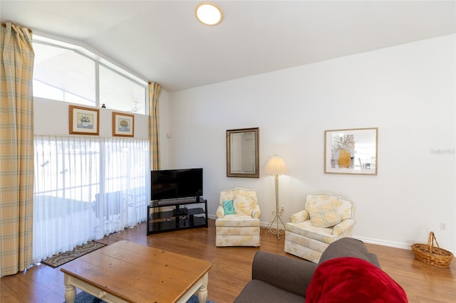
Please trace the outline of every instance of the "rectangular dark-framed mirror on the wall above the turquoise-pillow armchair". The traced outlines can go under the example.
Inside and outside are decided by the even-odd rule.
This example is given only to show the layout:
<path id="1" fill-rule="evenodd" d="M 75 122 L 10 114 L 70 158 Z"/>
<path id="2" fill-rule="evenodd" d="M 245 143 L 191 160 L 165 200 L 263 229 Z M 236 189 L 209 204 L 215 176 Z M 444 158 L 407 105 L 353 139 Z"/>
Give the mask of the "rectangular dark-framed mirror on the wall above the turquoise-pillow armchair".
<path id="1" fill-rule="evenodd" d="M 227 130 L 227 176 L 259 178 L 259 128 Z"/>

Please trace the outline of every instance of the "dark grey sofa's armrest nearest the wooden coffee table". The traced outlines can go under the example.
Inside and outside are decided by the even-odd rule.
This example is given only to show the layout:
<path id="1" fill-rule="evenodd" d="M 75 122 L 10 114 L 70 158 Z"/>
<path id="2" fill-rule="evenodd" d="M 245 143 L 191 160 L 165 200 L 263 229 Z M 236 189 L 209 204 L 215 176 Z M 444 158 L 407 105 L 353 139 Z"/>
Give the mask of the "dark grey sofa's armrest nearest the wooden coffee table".
<path id="1" fill-rule="evenodd" d="M 252 264 L 252 280 L 261 280 L 305 297 L 317 266 L 307 260 L 259 250 Z"/>

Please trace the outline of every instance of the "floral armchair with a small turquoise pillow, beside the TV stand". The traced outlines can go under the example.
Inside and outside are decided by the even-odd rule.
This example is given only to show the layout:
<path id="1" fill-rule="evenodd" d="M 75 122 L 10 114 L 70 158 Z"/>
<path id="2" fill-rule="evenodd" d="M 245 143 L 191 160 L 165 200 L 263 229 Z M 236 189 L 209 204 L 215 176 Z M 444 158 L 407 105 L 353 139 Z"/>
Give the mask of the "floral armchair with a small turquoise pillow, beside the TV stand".
<path id="1" fill-rule="evenodd" d="M 259 246 L 257 192 L 233 188 L 220 192 L 217 208 L 216 246 Z"/>

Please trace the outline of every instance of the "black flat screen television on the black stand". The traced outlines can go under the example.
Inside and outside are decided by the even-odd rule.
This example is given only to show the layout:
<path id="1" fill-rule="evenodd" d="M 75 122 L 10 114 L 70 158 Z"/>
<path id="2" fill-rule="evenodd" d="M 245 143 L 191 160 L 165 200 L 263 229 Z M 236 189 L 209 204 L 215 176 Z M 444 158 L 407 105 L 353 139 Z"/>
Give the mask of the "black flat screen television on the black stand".
<path id="1" fill-rule="evenodd" d="M 150 172 L 151 200 L 202 196 L 202 169 L 167 169 Z"/>

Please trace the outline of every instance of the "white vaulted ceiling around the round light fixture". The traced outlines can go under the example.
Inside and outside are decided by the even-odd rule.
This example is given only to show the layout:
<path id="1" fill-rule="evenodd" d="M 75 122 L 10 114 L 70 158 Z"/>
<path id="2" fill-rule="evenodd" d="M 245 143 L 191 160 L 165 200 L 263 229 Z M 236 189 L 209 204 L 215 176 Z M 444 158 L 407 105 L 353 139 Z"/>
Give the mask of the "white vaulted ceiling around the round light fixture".
<path id="1" fill-rule="evenodd" d="M 455 1 L 0 1 L 2 22 L 99 50 L 169 91 L 456 32 Z"/>

